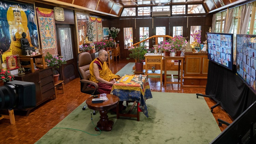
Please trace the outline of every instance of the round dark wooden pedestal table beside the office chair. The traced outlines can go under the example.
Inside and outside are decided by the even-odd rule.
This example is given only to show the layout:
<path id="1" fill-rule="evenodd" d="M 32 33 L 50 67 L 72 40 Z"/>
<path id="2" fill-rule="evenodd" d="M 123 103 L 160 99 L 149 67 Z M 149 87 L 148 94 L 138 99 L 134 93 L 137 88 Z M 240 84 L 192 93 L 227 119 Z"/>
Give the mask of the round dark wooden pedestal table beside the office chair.
<path id="1" fill-rule="evenodd" d="M 99 98 L 100 95 L 98 95 Z M 91 101 L 93 99 L 93 96 L 89 97 L 86 100 L 86 104 L 88 106 L 88 108 L 93 109 L 93 110 L 99 110 L 100 113 L 100 120 L 97 123 L 97 127 L 100 130 L 105 130 L 105 131 L 111 131 L 112 130 L 112 125 L 114 124 L 113 121 L 110 121 L 108 119 L 108 111 L 112 108 L 115 108 L 116 106 L 118 106 L 118 102 L 119 102 L 119 97 L 113 94 L 107 94 L 108 97 L 108 101 L 104 101 L 103 103 L 97 103 L 97 104 L 93 104 Z M 99 129 L 97 129 L 95 127 L 96 131 L 99 131 Z"/>

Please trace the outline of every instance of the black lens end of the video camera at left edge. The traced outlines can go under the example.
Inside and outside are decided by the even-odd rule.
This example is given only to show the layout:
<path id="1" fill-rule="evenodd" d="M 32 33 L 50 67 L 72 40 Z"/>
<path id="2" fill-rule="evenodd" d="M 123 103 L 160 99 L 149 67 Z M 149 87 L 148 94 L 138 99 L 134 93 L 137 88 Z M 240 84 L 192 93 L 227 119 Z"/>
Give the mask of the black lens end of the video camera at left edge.
<path id="1" fill-rule="evenodd" d="M 0 109 L 12 109 L 15 106 L 15 86 L 4 85 L 0 87 Z"/>

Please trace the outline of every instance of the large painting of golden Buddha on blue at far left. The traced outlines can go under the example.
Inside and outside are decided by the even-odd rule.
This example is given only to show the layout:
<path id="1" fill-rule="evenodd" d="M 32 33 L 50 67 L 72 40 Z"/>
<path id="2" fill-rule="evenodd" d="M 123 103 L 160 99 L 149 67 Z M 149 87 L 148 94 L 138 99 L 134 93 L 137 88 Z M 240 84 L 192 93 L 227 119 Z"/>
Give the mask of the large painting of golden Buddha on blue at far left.
<path id="1" fill-rule="evenodd" d="M 30 47 L 40 48 L 38 42 L 37 19 L 33 3 L 1 1 L 0 3 L 0 54 L 2 61 L 6 56 L 21 55 L 20 39 L 26 33 Z"/>

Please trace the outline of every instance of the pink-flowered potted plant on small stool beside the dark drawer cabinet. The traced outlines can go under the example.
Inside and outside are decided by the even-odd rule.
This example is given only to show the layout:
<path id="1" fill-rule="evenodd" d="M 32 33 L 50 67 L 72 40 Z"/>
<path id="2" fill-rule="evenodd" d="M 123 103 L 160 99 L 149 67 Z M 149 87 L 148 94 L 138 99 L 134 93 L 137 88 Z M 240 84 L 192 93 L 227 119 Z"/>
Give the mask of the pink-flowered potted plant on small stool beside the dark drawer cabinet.
<path id="1" fill-rule="evenodd" d="M 58 83 L 59 81 L 59 74 L 56 73 L 55 68 L 59 68 L 61 65 L 67 64 L 67 62 L 62 58 L 63 56 L 53 56 L 49 52 L 47 52 L 44 57 L 47 66 L 53 67 L 54 83 Z"/>

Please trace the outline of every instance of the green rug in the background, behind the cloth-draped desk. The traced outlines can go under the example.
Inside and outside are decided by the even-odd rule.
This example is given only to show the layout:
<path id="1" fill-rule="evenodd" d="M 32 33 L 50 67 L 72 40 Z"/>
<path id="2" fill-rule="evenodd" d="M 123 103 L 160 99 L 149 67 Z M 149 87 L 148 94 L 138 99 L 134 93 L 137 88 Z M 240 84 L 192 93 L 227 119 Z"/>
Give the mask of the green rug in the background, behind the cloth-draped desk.
<path id="1" fill-rule="evenodd" d="M 116 74 L 120 76 L 124 76 L 125 74 L 133 74 L 134 70 L 132 70 L 132 67 L 135 65 L 135 62 L 129 62 L 126 66 L 124 66 L 121 70 L 119 70 Z M 165 71 L 162 71 L 162 73 L 165 73 Z M 178 74 L 178 71 L 167 71 L 167 74 Z M 160 75 L 149 75 L 149 78 L 160 78 Z M 167 78 L 170 78 L 171 76 L 167 76 Z M 174 76 L 175 78 L 175 76 Z"/>

